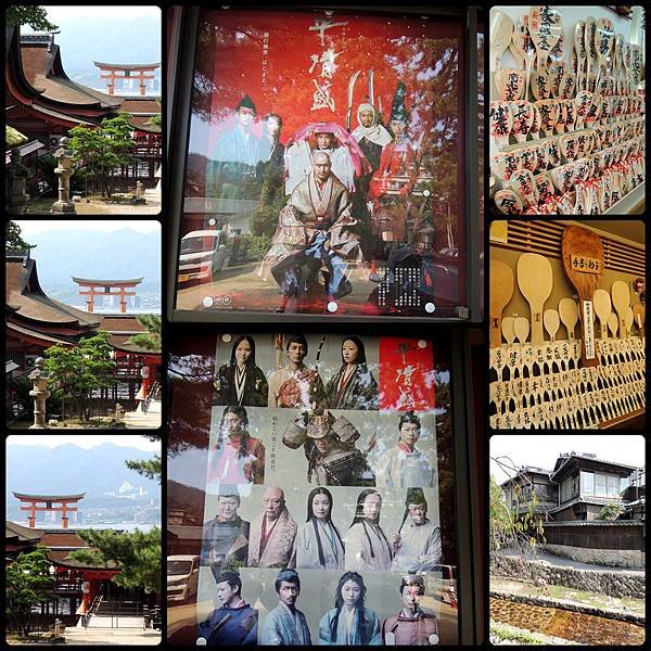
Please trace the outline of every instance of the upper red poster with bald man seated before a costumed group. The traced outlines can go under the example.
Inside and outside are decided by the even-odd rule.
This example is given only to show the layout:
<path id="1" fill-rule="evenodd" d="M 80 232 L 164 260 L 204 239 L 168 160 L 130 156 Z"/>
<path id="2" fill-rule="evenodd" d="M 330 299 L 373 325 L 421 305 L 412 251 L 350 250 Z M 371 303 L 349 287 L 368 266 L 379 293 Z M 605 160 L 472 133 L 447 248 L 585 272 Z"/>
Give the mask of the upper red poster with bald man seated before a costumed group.
<path id="1" fill-rule="evenodd" d="M 174 310 L 469 318 L 464 29 L 203 10 Z"/>

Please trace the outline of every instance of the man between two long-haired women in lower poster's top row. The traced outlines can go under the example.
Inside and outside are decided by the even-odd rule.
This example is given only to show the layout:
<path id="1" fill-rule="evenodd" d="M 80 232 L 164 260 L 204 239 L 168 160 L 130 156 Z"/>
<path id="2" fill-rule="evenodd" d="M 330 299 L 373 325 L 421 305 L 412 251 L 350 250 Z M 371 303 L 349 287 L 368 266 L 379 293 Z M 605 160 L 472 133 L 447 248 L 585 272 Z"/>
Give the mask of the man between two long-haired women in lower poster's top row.
<path id="1" fill-rule="evenodd" d="M 303 363 L 307 352 L 307 340 L 302 334 L 288 337 L 288 365 L 269 375 L 269 407 L 316 409 L 324 405 L 326 390 L 319 372 Z"/>

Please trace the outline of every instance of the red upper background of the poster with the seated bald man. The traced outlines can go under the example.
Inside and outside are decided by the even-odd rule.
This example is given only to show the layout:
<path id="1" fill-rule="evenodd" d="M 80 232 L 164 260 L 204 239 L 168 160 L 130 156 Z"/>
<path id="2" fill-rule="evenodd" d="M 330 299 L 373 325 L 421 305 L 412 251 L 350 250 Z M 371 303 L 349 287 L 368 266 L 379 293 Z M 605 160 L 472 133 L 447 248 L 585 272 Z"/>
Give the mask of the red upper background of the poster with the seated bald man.
<path id="1" fill-rule="evenodd" d="M 195 79 L 193 110 L 210 122 L 204 153 L 212 151 L 220 132 L 233 127 L 232 112 L 244 93 L 255 103 L 258 118 L 269 112 L 281 115 L 282 142 L 311 122 L 336 122 L 345 126 L 348 80 L 355 71 L 361 71 L 353 98 L 350 128 L 355 129 L 358 124 L 357 106 L 368 98 L 371 68 L 374 71 L 373 104 L 378 104 L 380 95 L 385 122 L 388 122 L 394 93 L 401 80 L 406 86 L 405 104 L 410 114 L 408 130 L 411 139 L 419 142 L 436 128 L 437 116 L 430 110 L 435 98 L 431 95 L 436 95 L 436 81 L 444 76 L 442 72 L 450 63 L 442 62 L 437 53 L 444 42 L 441 39 L 445 39 L 446 47 L 456 54 L 451 58 L 452 65 L 460 66 L 460 23 L 438 18 L 329 13 L 331 15 L 323 11 L 212 10 L 203 14 L 205 22 L 197 48 L 195 67 L 199 85 Z M 335 26 L 323 31 L 322 44 L 320 33 L 309 28 L 326 20 Z M 268 44 L 266 53 L 265 43 Z M 320 76 L 320 63 L 309 72 L 311 55 L 320 59 L 327 50 L 337 53 L 332 79 Z M 463 105 L 461 78 L 460 75 L 455 78 L 459 115 Z M 329 93 L 334 100 L 334 111 L 329 107 L 311 110 L 315 79 L 320 85 L 331 82 Z M 449 91 L 449 82 L 446 81 L 446 85 Z M 203 99 L 197 98 L 197 88 L 212 92 L 205 92 Z M 259 128 L 258 124 L 258 135 Z"/>

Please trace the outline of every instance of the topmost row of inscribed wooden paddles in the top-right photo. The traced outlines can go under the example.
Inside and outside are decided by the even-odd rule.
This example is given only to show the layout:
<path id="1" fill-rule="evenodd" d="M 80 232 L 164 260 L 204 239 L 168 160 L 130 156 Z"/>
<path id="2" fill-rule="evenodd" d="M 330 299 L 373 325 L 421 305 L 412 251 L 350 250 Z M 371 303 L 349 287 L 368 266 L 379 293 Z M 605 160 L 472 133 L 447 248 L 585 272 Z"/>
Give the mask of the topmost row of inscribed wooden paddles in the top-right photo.
<path id="1" fill-rule="evenodd" d="M 520 68 L 525 69 L 524 99 L 559 97 L 572 92 L 595 91 L 633 94 L 641 81 L 642 52 L 624 35 L 615 36 L 609 18 L 577 21 L 573 34 L 570 64 L 564 61 L 563 27 L 558 8 L 532 7 L 515 23 L 503 12 L 490 11 L 490 71 L 496 71 L 496 86 L 515 68 L 500 71 L 507 49 Z M 532 78 L 532 71 L 535 71 Z M 600 80 L 602 81 L 600 84 Z"/>

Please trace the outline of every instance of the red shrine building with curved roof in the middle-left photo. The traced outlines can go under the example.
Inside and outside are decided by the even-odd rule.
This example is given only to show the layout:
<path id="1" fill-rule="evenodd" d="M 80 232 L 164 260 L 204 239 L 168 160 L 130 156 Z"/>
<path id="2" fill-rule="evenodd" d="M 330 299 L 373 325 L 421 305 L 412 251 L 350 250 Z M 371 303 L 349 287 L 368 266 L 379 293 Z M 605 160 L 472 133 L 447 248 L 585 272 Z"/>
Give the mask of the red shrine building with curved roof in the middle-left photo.
<path id="1" fill-rule="evenodd" d="M 117 383 L 101 390 L 100 406 L 113 408 L 119 401 L 135 409 L 146 398 L 159 380 L 162 355 L 128 343 L 130 336 L 145 332 L 135 315 L 85 312 L 51 298 L 40 286 L 36 260 L 28 253 L 7 252 L 5 275 L 5 362 L 15 365 L 12 378 L 27 375 L 50 346 L 73 347 L 82 336 L 103 330 L 110 333 Z M 10 409 L 11 396 L 8 400 Z"/>

